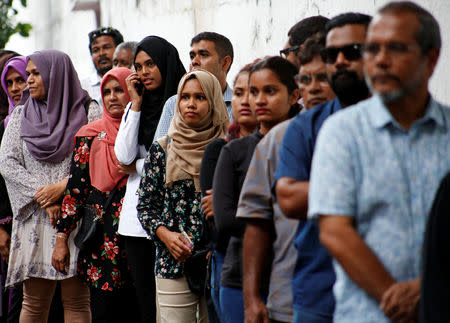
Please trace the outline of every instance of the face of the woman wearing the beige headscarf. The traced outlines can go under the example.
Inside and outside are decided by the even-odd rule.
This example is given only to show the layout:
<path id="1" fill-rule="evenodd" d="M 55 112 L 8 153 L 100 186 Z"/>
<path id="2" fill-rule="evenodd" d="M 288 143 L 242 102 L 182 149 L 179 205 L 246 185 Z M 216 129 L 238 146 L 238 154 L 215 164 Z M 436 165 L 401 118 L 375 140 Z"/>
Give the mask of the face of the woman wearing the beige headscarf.
<path id="1" fill-rule="evenodd" d="M 197 126 L 209 112 L 209 103 L 197 79 L 184 83 L 180 94 L 180 112 L 191 127 Z"/>

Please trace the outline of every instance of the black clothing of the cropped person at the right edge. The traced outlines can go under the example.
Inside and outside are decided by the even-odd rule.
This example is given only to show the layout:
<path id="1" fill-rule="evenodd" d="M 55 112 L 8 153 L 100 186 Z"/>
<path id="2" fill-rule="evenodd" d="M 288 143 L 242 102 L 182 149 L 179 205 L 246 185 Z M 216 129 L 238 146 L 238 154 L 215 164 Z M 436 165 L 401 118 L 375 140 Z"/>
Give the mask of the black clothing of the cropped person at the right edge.
<path id="1" fill-rule="evenodd" d="M 450 173 L 441 182 L 425 231 L 419 321 L 450 322 Z"/>

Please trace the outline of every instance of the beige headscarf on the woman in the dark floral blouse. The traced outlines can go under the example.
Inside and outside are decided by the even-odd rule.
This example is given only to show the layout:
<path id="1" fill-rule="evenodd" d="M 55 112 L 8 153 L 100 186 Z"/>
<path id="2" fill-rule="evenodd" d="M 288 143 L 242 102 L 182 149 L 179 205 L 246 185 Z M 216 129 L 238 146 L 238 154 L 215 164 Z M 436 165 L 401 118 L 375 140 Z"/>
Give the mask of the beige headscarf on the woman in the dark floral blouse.
<path id="1" fill-rule="evenodd" d="M 199 81 L 209 104 L 208 114 L 195 128 L 186 124 L 180 112 L 181 92 L 193 75 Z M 199 173 L 203 152 L 211 141 L 225 135 L 228 122 L 222 88 L 216 77 L 204 70 L 194 70 L 183 76 L 178 86 L 175 114 L 168 132 L 170 138 L 166 150 L 168 186 L 178 180 L 192 179 L 196 191 L 200 192 Z M 167 138 L 163 137 L 162 140 Z"/>

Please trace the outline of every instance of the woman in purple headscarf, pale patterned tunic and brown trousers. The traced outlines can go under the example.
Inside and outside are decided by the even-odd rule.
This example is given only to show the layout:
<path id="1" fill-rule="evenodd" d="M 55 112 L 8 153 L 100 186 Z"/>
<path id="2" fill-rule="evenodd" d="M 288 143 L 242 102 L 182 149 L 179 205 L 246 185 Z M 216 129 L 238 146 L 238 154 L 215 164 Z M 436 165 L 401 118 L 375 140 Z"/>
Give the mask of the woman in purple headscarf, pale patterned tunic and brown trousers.
<path id="1" fill-rule="evenodd" d="M 90 322 L 89 289 L 76 278 L 73 239 L 68 241 L 71 258 L 65 274 L 54 270 L 51 260 L 73 138 L 88 120 L 99 119 L 101 110 L 81 88 L 66 54 L 35 52 L 27 57 L 26 72 L 28 88 L 10 116 L 0 148 L 0 172 L 13 211 L 6 287 L 23 282 L 20 322 L 47 322 L 57 281 L 65 321 Z"/>

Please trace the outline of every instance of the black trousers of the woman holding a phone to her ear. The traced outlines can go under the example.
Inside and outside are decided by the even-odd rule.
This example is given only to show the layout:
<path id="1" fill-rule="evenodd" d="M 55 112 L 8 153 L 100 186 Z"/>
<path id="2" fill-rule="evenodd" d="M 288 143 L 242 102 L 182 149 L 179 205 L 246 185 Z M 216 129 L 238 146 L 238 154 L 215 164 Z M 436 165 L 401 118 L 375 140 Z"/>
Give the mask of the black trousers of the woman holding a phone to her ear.
<path id="1" fill-rule="evenodd" d="M 122 236 L 136 287 L 142 323 L 156 322 L 155 245 L 146 238 Z"/>

